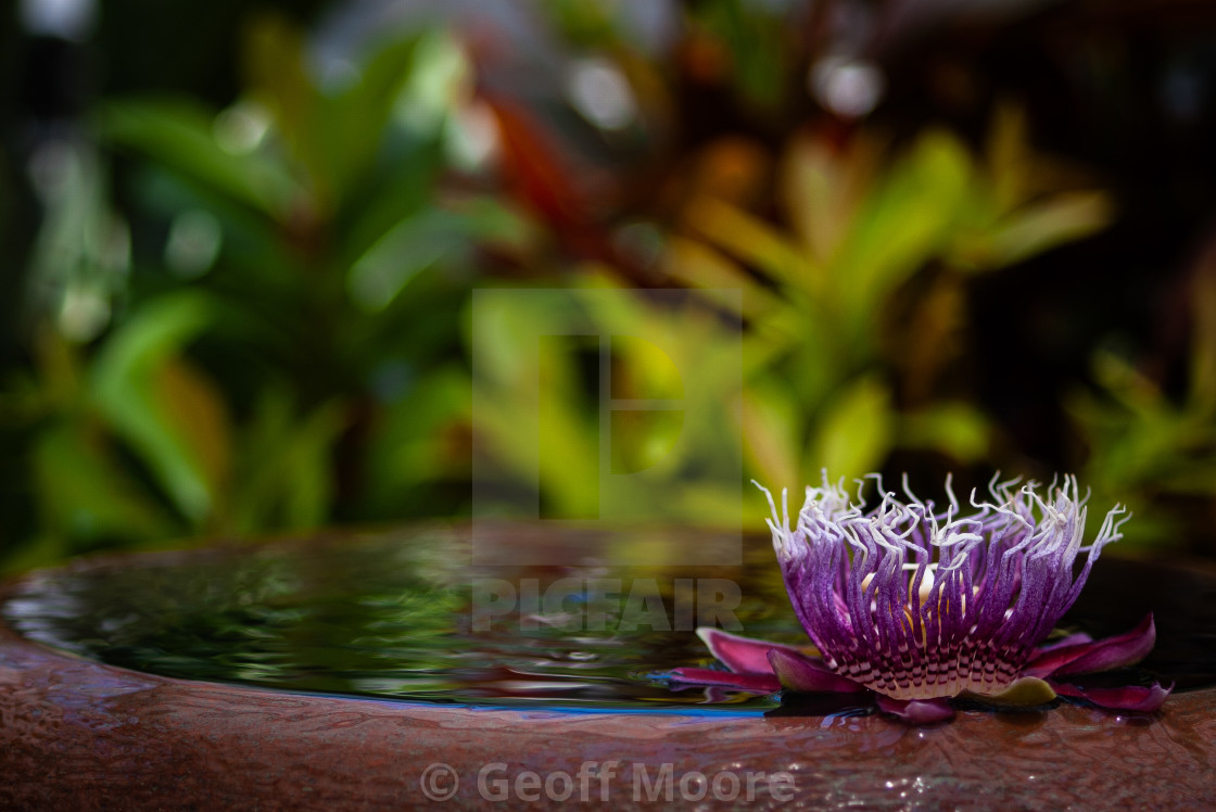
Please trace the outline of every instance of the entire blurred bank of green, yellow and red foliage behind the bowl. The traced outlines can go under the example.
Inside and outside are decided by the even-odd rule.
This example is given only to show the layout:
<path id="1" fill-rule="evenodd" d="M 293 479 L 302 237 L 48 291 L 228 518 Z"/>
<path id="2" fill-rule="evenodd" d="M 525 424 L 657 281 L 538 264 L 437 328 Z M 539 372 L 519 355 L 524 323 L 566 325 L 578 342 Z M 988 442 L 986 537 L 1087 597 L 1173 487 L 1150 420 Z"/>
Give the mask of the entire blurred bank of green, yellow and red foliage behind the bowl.
<path id="1" fill-rule="evenodd" d="M 5 502 L 34 518 L 7 529 L 0 568 L 462 514 L 471 456 L 507 513 L 535 491 L 546 515 L 593 515 L 604 470 L 653 472 L 614 515 L 703 524 L 738 514 L 736 489 L 699 479 L 733 459 L 792 489 L 895 461 L 1049 478 L 969 379 L 970 294 L 1107 227 L 1113 196 L 1034 150 L 1014 105 L 970 140 L 800 107 L 814 53 L 778 5 L 693 4 L 668 62 L 634 47 L 612 4 L 539 4 L 562 71 L 632 94 L 617 129 L 564 74 L 506 92 L 475 36 L 388 32 L 327 72 L 276 17 L 248 21 L 224 107 L 102 98 L 30 160 L 29 363 L 4 380 L 0 428 L 19 472 Z M 714 119 L 680 141 L 681 94 L 704 86 L 759 135 Z M 1060 458 L 1158 545 L 1216 498 L 1216 277 L 1197 278 L 1181 395 L 1102 350 L 1096 385 L 1065 402 Z M 561 309 L 499 304 L 473 323 L 478 287 L 602 294 L 587 306 L 610 334 L 664 338 L 659 353 L 614 339 L 613 397 L 708 397 L 711 416 L 614 415 L 602 461 L 599 350 L 534 346 L 569 332 Z M 692 295 L 658 306 L 643 287 Z"/>

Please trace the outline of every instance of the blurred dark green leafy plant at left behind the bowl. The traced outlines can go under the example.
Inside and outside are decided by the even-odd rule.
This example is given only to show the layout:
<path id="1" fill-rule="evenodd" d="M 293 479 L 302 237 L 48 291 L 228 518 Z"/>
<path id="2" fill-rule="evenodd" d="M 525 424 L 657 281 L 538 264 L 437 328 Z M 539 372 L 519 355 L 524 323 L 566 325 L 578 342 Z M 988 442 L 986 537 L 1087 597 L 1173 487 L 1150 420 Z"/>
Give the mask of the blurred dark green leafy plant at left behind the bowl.
<path id="1" fill-rule="evenodd" d="M 107 253 L 106 229 L 125 226 L 100 173 L 75 171 L 91 152 L 62 147 L 73 171 L 32 269 L 38 363 L 9 395 L 33 433 L 39 502 L 17 565 L 392 518 L 438 498 L 426 484 L 466 478 L 467 451 L 440 430 L 468 402 L 449 353 L 467 282 L 451 266 L 472 239 L 510 242 L 523 224 L 492 198 L 437 199 L 444 92 L 461 86 L 433 74 L 456 45 L 393 41 L 333 90 L 292 28 L 263 19 L 248 36 L 248 90 L 225 111 L 98 108 L 101 142 L 137 162 L 136 205 L 164 224 L 157 266 Z"/>

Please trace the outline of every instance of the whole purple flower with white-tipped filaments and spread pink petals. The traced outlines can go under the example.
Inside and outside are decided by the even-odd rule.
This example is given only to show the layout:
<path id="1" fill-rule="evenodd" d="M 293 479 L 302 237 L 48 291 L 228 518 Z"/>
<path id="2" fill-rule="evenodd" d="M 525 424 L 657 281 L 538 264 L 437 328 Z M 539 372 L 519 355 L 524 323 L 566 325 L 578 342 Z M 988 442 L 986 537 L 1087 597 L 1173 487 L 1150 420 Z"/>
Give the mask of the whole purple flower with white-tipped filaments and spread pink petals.
<path id="1" fill-rule="evenodd" d="M 730 671 L 676 669 L 676 682 L 743 690 L 857 692 L 879 709 L 916 723 L 948 720 L 952 698 L 996 706 L 1036 706 L 1057 695 L 1103 707 L 1152 712 L 1170 688 L 1081 688 L 1077 675 L 1142 660 L 1156 638 L 1153 616 L 1126 635 L 1093 641 L 1073 635 L 1045 645 L 1073 605 L 1102 548 L 1122 537 L 1121 506 L 1082 545 L 1086 498 L 1074 477 L 1045 496 L 1018 480 L 990 485 L 991 501 L 963 515 L 946 479 L 950 504 L 935 512 L 903 481 L 907 502 L 883 491 L 865 513 L 840 484 L 806 489 L 790 529 L 769 497 L 773 547 L 794 613 L 814 647 L 781 645 L 700 628 Z M 1085 564 L 1073 577 L 1077 554 Z"/>

